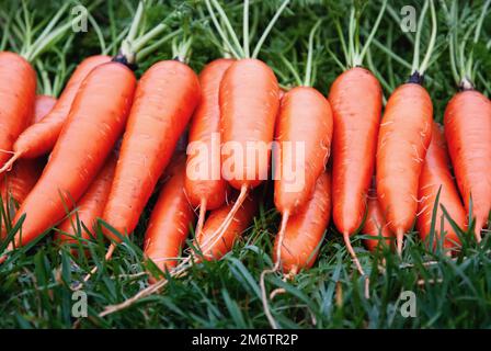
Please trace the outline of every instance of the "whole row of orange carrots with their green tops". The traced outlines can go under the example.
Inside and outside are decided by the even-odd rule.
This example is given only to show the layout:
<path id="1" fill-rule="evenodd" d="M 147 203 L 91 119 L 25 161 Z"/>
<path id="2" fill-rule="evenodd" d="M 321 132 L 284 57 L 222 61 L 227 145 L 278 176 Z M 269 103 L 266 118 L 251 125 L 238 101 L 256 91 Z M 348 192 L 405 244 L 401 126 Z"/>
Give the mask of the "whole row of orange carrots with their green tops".
<path id="1" fill-rule="evenodd" d="M 266 275 L 290 280 L 311 268 L 331 224 L 365 279 L 366 298 L 369 280 L 352 247 L 354 235 L 367 235 L 370 251 L 393 248 L 399 254 L 414 225 L 425 245 L 448 256 L 459 251 L 463 235 L 473 234 L 479 244 L 491 211 L 491 102 L 476 88 L 482 75 L 472 44 L 480 41 L 490 3 L 482 2 L 461 38 L 457 1 L 423 1 L 408 80 L 395 87 L 372 57 L 373 46 L 389 56 L 390 44 L 377 38 L 384 15 L 393 11 L 387 1 L 370 19 L 370 31 L 363 31 L 361 21 L 368 19 L 352 7 L 346 33 L 340 22 L 334 26 L 335 43 L 322 43 L 322 19 L 308 23 L 308 35 L 295 38 L 305 63 L 292 47 L 263 50 L 269 36 L 283 35 L 275 24 L 288 15 L 289 0 L 275 7 L 263 29 L 253 1 L 227 8 L 199 1 L 195 21 L 221 57 L 208 57 L 198 75 L 189 66 L 192 29 L 172 27 L 175 13 L 147 27 L 148 3 L 140 2 L 127 29 L 113 35 L 114 56 L 106 55 L 102 30 L 89 15 L 101 53 L 77 61 L 64 88 L 52 89 L 66 72 L 52 84 L 43 55 L 69 47 L 77 35 L 72 22 L 61 21 L 69 5 L 35 24 L 24 2 L 24 18 L 9 20 L 7 13 L 2 21 L 0 261 L 15 264 L 16 251 L 52 234 L 73 258 L 92 254 L 89 242 L 103 235 L 109 261 L 158 192 L 142 245 L 149 285 L 102 317 L 160 291 L 190 267 L 221 259 L 270 197 L 282 219 L 273 264 L 260 286 L 265 316 L 277 327 L 269 301 L 281 292 L 267 294 Z M 455 24 L 448 25 L 448 47 L 437 43 L 438 5 Z M 237 13 L 241 25 L 231 21 Z M 71 21 L 78 20 L 87 19 Z M 15 45 L 15 37 L 28 39 Z M 172 57 L 152 63 L 137 79 L 137 66 L 169 43 Z M 443 125 L 434 121 L 424 87 L 435 52 L 450 56 L 457 82 Z M 321 66 L 321 55 L 343 70 L 329 91 L 313 88 L 323 69 L 333 69 Z M 58 67 L 65 63 L 61 53 Z"/>

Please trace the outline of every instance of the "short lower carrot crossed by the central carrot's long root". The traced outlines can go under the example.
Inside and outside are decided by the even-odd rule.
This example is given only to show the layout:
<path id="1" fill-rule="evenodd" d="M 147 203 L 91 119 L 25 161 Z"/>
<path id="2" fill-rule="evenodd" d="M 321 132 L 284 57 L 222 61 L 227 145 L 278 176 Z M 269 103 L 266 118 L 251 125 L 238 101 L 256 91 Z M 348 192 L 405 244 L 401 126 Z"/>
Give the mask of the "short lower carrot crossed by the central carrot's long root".
<path id="1" fill-rule="evenodd" d="M 209 238 L 215 234 L 217 228 L 227 217 L 233 206 L 233 203 L 235 202 L 230 202 L 220 208 L 212 211 L 205 222 L 205 225 L 203 226 L 203 230 L 196 238 L 196 242 L 202 250 L 203 258 L 207 261 L 219 260 L 227 252 L 229 252 L 236 240 L 239 239 L 242 233 L 250 227 L 258 211 L 258 201 L 254 194 L 249 195 L 240 206 L 240 210 L 235 214 L 233 219 L 225 230 L 224 236 L 215 245 L 213 245 L 214 240 L 209 240 Z"/>

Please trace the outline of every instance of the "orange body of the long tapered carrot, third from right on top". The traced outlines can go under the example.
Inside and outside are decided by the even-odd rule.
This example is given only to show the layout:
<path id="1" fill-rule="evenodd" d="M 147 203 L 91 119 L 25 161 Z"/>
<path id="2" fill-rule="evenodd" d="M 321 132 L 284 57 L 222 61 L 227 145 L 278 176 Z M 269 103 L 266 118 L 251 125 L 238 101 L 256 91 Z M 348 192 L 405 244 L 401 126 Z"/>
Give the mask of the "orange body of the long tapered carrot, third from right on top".
<path id="1" fill-rule="evenodd" d="M 374 174 L 381 116 L 381 88 L 370 71 L 352 68 L 329 92 L 333 111 L 333 222 L 340 233 L 354 234 L 366 212 Z"/>

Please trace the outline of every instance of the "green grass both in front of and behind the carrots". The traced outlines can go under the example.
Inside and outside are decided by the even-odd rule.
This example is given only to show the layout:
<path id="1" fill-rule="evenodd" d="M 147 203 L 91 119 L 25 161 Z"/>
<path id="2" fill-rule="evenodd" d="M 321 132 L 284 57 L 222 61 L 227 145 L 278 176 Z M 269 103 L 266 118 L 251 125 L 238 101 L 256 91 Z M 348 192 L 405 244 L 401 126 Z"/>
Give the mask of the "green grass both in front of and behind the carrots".
<path id="1" fill-rule="evenodd" d="M 89 3 L 91 1 L 85 1 Z M 170 13 L 180 1 L 153 1 L 152 11 L 147 21 L 157 23 Z M 421 1 L 409 1 L 421 8 Z M 48 16 L 56 12 L 57 1 L 30 2 L 36 8 L 35 18 Z M 47 4 L 46 4 L 47 3 Z M 267 1 L 251 5 L 251 15 L 273 13 L 279 2 Z M 364 1 L 356 1 L 357 4 Z M 408 1 L 390 1 L 399 9 Z M 469 13 L 479 13 L 477 1 Z M 199 11 L 193 9 L 199 1 L 186 1 L 172 19 L 171 27 L 185 23 L 195 34 L 193 55 L 190 65 L 199 70 L 204 64 L 220 55 L 212 41 L 206 23 L 198 19 Z M 435 104 L 435 118 L 442 121 L 446 102 L 454 94 L 455 83 L 448 64 L 446 39 L 448 25 L 439 2 L 438 38 L 436 60 L 427 71 L 426 87 Z M 464 5 L 464 3 L 461 3 Z M 237 8 L 237 2 L 228 7 Z M 343 18 L 347 4 L 338 1 L 297 0 L 290 5 L 294 11 L 286 12 L 265 44 L 262 58 L 277 69 L 281 83 L 288 86 L 292 75 L 278 59 L 284 55 L 290 59 L 299 73 L 302 73 L 306 57 L 308 33 L 318 18 L 323 18 L 320 37 L 316 45 L 317 80 L 316 87 L 327 93 L 334 78 L 341 72 L 328 54 L 328 48 L 342 57 L 334 21 Z M 9 13 L 14 2 L 0 5 Z M 92 14 L 101 26 L 106 44 L 130 22 L 130 9 L 136 1 L 105 1 L 95 5 Z M 366 5 L 362 16 L 362 33 L 369 31 L 375 21 L 379 4 Z M 240 7 L 239 7 L 240 9 Z M 294 16 L 296 12 L 299 18 Z M 398 11 L 396 11 L 397 13 Z M 469 14 L 468 22 L 472 21 Z M 267 16 L 266 16 L 267 18 Z M 113 21 L 111 19 L 114 19 Z M 475 18 L 473 18 L 475 19 Z M 365 21 L 367 20 L 367 22 Z M 232 23 L 241 23 L 240 11 L 231 14 Z M 0 22 L 0 26 L 3 25 Z M 468 23 L 461 23 L 467 25 Z M 483 43 L 490 39 L 490 21 L 483 30 L 483 42 L 476 49 L 475 59 L 480 59 L 483 81 L 478 88 L 487 89 L 491 58 Z M 264 23 L 260 21 L 258 27 Z M 429 22 L 422 35 L 422 47 L 427 41 Z M 399 31 L 392 16 L 382 19 L 376 35 L 388 49 L 372 46 L 372 64 L 379 77 L 390 88 L 403 82 L 409 76 L 406 67 L 391 59 L 386 50 L 411 61 L 412 39 Z M 98 53 L 99 39 L 93 32 L 76 35 L 73 45 L 56 49 L 62 50 L 67 66 L 73 67 L 82 57 Z M 0 41 L 1 43 L 1 41 Z M 9 46 L 8 46 L 9 47 Z M 424 50 L 424 49 L 422 49 Z M 115 53 L 115 47 L 112 54 Z M 42 57 L 48 76 L 57 75 L 58 57 L 55 48 Z M 152 63 L 171 57 L 170 45 L 163 45 L 153 55 L 139 63 L 140 75 Z M 488 88 L 489 89 L 489 88 Z M 489 93 L 489 91 L 488 91 Z M 135 234 L 119 246 L 113 259 L 103 262 L 106 245 L 100 238 L 89 245 L 91 259 L 83 256 L 72 257 L 67 248 L 58 248 L 52 235 L 46 235 L 35 245 L 20 249 L 0 265 L 0 328 L 267 328 L 261 301 L 259 279 L 262 270 L 272 265 L 271 251 L 278 215 L 272 210 L 271 184 L 267 196 L 261 201 L 261 212 L 254 225 L 243 234 L 233 251 L 218 262 L 205 262 L 193 265 L 185 276 L 171 279 L 162 292 L 139 301 L 132 307 L 99 318 L 98 315 L 107 305 L 122 303 L 145 288 L 147 276 L 142 264 L 141 244 L 146 223 L 155 200 L 150 201 L 141 216 Z M 410 233 L 402 258 L 382 250 L 367 252 L 361 245 L 361 236 L 354 239 L 355 249 L 364 269 L 370 276 L 370 298 L 364 297 L 364 279 L 355 270 L 346 253 L 341 236 L 331 227 L 324 237 L 319 258 L 315 267 L 300 272 L 294 281 L 284 282 L 281 275 L 269 275 L 267 291 L 277 287 L 285 290 L 270 301 L 277 324 L 283 328 L 490 328 L 491 327 L 491 240 L 483 235 L 483 241 L 477 245 L 469 234 L 463 236 L 463 248 L 457 257 L 448 258 L 441 250 L 431 252 L 418 239 L 416 233 Z M 3 247 L 0 246 L 0 249 Z M 425 263 L 430 262 L 430 264 Z M 83 286 L 88 296 L 88 318 L 77 320 L 71 316 L 72 287 L 94 267 L 100 271 Z M 400 313 L 403 303 L 400 297 L 404 291 L 416 296 L 416 317 L 404 318 Z"/>

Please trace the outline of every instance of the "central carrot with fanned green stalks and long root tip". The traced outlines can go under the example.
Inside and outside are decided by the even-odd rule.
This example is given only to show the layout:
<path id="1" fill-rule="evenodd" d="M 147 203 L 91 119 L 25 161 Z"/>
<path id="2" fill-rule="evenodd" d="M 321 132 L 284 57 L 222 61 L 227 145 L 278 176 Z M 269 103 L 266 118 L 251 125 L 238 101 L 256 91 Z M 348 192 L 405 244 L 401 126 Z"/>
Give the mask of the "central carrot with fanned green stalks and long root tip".
<path id="1" fill-rule="evenodd" d="M 226 23 L 232 42 L 224 34 L 210 2 L 213 2 L 215 11 L 220 14 L 222 22 Z M 221 226 L 217 227 L 214 235 L 216 240 L 220 240 L 227 231 L 227 227 L 242 202 L 246 201 L 250 190 L 267 179 L 270 147 L 279 106 L 279 87 L 273 70 L 256 57 L 264 39 L 288 2 L 288 0 L 283 1 L 254 50 L 250 54 L 249 2 L 244 2 L 243 46 L 240 46 L 237 33 L 231 27 L 218 1 L 205 1 L 217 32 L 229 52 L 237 58 L 221 79 L 219 104 L 220 140 L 222 143 L 221 177 L 233 189 L 240 190 L 240 194 Z"/>

